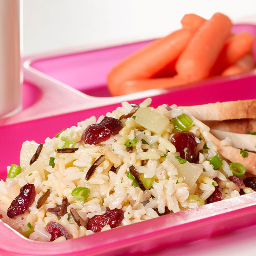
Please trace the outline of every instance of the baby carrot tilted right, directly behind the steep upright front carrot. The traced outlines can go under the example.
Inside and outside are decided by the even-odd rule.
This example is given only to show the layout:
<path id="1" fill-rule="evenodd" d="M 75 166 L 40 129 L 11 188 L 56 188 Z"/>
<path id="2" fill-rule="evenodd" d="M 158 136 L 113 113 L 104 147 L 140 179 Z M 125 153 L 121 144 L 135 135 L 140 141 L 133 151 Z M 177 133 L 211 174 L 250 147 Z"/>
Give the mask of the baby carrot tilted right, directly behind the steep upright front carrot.
<path id="1" fill-rule="evenodd" d="M 246 32 L 231 36 L 213 65 L 211 75 L 220 74 L 225 68 L 249 53 L 252 50 L 253 42 L 253 36 Z"/>

